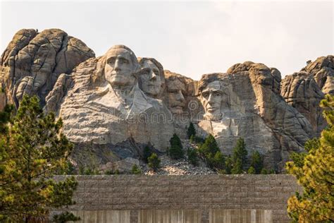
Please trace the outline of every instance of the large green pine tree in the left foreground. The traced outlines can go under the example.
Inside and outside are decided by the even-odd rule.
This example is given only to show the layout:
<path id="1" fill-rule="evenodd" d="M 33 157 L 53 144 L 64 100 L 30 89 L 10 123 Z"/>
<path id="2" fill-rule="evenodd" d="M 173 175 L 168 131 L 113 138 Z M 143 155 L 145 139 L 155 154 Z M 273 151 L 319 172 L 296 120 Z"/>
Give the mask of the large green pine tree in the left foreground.
<path id="1" fill-rule="evenodd" d="M 38 98 L 27 95 L 15 117 L 12 110 L 6 107 L 0 115 L 0 221 L 20 222 L 73 205 L 74 177 L 52 179 L 66 170 L 73 150 L 60 133 L 61 119 L 43 114 Z"/>

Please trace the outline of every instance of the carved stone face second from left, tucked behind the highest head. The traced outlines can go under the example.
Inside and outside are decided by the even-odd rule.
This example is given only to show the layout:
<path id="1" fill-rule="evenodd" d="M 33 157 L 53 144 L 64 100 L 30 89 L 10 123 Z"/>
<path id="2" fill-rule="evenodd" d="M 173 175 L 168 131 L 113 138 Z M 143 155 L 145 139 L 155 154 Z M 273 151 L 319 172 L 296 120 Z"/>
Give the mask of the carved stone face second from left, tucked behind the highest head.
<path id="1" fill-rule="evenodd" d="M 142 64 L 142 72 L 140 74 L 140 82 L 142 91 L 147 95 L 156 97 L 161 91 L 161 73 L 159 68 L 152 61 L 144 61 Z"/>

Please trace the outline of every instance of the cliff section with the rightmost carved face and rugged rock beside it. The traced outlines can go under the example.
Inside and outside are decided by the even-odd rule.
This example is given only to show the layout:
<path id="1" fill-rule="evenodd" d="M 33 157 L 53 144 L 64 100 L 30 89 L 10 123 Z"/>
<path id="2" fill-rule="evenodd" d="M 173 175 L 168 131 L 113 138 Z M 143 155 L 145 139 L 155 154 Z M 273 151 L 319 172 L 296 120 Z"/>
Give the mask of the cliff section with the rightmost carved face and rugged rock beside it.
<path id="1" fill-rule="evenodd" d="M 303 150 L 314 132 L 309 121 L 278 94 L 279 82 L 275 68 L 249 61 L 235 64 L 228 73 L 203 76 L 199 95 L 206 121 L 199 126 L 216 135 L 223 151 L 230 153 L 242 137 L 249 151 L 265 155 L 268 166 L 283 169 L 290 152 Z"/>

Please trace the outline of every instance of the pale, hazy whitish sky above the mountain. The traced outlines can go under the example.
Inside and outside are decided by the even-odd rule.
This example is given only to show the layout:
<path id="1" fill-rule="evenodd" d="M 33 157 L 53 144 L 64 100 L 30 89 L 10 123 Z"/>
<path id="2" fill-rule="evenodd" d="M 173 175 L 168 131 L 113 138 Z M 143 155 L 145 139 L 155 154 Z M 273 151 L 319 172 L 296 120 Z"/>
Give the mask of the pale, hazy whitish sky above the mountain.
<path id="1" fill-rule="evenodd" d="M 4 52 L 22 28 L 59 28 L 103 55 L 136 56 L 194 80 L 253 61 L 282 76 L 334 54 L 334 1 L 1 1 Z"/>

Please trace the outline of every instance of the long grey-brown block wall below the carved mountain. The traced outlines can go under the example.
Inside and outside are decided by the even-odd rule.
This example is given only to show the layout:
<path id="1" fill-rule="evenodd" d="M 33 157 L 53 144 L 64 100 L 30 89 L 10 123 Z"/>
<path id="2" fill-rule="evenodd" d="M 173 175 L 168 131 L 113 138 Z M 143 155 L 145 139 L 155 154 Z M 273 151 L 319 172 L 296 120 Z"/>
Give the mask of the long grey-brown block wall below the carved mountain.
<path id="1" fill-rule="evenodd" d="M 57 176 L 61 179 L 63 176 Z M 76 176 L 82 222 L 289 222 L 293 176 Z"/>

